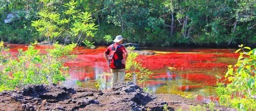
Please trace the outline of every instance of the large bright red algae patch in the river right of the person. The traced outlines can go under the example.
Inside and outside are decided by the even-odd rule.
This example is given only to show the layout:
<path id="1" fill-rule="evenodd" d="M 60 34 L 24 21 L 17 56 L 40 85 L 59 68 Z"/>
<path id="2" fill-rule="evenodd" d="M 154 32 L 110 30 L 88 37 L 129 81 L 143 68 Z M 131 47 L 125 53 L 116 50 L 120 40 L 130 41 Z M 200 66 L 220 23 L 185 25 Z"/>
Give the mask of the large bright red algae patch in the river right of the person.
<path id="1" fill-rule="evenodd" d="M 225 63 L 213 63 L 217 61 L 216 57 L 218 57 L 218 54 L 168 53 L 158 56 L 139 56 L 136 61 L 141 62 L 143 67 L 151 70 L 169 66 L 178 70 L 195 68 L 212 69 L 228 65 Z"/>

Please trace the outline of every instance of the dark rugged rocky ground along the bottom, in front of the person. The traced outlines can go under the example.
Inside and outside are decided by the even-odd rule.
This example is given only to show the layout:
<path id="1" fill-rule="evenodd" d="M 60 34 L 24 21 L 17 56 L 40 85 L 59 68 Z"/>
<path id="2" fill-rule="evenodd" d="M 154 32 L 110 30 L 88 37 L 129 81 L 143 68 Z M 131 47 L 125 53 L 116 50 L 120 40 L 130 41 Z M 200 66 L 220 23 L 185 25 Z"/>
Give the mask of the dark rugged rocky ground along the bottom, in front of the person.
<path id="1" fill-rule="evenodd" d="M 107 92 L 57 85 L 31 85 L 20 91 L 0 93 L 1 110 L 163 110 L 199 103 L 177 95 L 145 93 L 133 82 L 119 82 Z M 220 110 L 234 110 L 217 107 Z"/>

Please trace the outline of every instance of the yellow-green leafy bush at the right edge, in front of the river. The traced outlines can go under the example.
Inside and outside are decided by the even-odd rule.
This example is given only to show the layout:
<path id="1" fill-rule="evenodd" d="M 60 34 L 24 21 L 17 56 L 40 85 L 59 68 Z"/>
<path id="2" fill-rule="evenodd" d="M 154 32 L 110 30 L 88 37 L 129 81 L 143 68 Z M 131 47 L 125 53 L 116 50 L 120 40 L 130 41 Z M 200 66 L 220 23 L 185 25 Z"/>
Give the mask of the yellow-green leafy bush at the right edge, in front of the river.
<path id="1" fill-rule="evenodd" d="M 255 95 L 255 65 L 256 49 L 239 45 L 240 52 L 237 64 L 228 66 L 225 77 L 230 81 L 225 85 L 218 82 L 217 94 L 222 105 L 236 107 L 239 110 L 253 110 L 256 108 Z"/>

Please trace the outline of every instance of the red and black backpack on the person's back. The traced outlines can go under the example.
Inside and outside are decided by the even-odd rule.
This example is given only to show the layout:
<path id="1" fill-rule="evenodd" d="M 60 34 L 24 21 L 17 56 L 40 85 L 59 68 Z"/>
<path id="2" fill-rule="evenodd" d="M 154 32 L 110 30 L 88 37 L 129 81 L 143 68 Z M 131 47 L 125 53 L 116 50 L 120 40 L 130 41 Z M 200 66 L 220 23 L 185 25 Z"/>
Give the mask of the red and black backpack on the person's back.
<path id="1" fill-rule="evenodd" d="M 122 60 L 117 56 L 117 49 L 120 48 L 122 45 L 118 45 L 117 48 L 114 48 L 114 44 L 111 45 L 111 50 L 109 54 L 109 62 L 110 68 L 120 68 L 122 67 Z"/>

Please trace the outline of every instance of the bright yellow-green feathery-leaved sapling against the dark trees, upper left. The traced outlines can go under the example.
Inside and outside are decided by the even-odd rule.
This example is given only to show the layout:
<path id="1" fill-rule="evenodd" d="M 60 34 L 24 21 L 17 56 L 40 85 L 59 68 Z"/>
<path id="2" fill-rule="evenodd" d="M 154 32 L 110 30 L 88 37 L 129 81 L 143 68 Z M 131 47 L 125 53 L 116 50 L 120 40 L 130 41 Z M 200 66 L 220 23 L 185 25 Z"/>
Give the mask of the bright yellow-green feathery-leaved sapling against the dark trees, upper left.
<path id="1" fill-rule="evenodd" d="M 46 37 L 49 43 L 54 43 L 59 37 L 70 39 L 77 44 L 94 37 L 96 25 L 89 12 L 81 12 L 77 9 L 77 2 L 70 1 L 64 4 L 66 10 L 62 13 L 51 12 L 49 8 L 38 12 L 40 19 L 32 21 L 32 26 L 39 32 L 40 36 Z M 89 41 L 86 41 L 89 42 Z"/>

